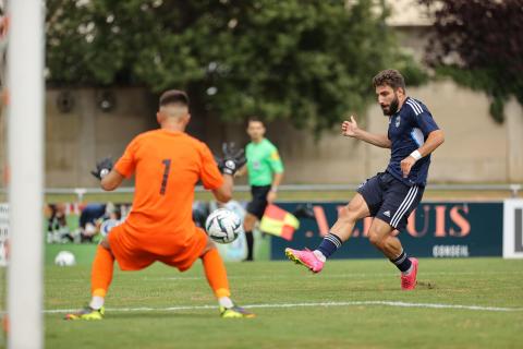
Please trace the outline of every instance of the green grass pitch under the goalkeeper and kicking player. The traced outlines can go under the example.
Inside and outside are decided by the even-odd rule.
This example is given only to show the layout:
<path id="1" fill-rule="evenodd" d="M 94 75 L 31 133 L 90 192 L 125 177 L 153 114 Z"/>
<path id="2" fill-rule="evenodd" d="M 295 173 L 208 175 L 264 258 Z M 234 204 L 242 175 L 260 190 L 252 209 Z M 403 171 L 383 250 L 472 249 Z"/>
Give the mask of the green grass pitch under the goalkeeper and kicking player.
<path id="1" fill-rule="evenodd" d="M 106 318 L 66 322 L 64 310 L 89 299 L 90 266 L 48 264 L 46 348 L 523 346 L 522 260 L 422 258 L 412 292 L 386 260 L 330 261 L 318 275 L 287 261 L 227 267 L 233 299 L 256 318 L 220 318 L 197 262 L 183 274 L 115 270 Z"/>

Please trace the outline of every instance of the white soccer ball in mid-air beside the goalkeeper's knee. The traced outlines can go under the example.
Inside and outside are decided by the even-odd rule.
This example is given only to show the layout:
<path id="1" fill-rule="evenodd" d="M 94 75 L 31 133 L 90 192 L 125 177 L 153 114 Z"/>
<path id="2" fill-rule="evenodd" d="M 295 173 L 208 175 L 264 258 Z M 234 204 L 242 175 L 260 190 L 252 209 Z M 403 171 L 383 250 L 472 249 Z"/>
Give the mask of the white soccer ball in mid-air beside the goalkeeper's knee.
<path id="1" fill-rule="evenodd" d="M 207 217 L 205 230 L 214 241 L 230 243 L 243 231 L 242 219 L 230 209 L 218 208 Z"/>

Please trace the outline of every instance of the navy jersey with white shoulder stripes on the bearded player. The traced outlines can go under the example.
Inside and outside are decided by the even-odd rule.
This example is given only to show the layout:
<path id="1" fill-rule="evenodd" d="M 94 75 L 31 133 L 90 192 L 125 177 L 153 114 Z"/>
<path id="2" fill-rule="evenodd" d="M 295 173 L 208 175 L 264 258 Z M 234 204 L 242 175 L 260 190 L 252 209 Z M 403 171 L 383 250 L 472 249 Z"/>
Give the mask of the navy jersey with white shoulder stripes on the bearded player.
<path id="1" fill-rule="evenodd" d="M 408 178 L 403 178 L 400 163 L 419 148 L 427 140 L 428 134 L 436 130 L 439 128 L 427 107 L 419 100 L 408 97 L 401 109 L 389 117 L 388 137 L 392 145 L 387 171 L 408 185 L 425 186 L 430 155 L 417 160 Z"/>

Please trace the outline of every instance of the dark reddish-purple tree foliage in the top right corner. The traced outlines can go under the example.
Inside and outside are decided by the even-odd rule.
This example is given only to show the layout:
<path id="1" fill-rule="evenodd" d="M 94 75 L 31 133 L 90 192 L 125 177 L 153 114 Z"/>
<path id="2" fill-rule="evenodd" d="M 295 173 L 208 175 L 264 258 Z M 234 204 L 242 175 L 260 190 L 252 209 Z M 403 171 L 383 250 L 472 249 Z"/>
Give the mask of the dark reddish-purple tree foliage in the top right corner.
<path id="1" fill-rule="evenodd" d="M 513 94 L 523 105 L 523 0 L 419 0 L 435 9 L 426 60 L 443 75 L 490 96 L 503 121 Z"/>

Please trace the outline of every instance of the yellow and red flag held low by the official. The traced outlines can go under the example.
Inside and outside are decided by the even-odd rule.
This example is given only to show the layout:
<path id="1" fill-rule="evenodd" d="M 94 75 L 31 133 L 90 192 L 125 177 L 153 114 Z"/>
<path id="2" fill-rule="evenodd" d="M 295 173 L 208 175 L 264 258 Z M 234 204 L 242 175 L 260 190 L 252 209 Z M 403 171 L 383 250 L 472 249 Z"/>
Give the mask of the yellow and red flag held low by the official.
<path id="1" fill-rule="evenodd" d="M 300 228 L 300 221 L 293 214 L 276 206 L 268 205 L 259 229 L 264 232 L 291 241 L 294 231 Z"/>

